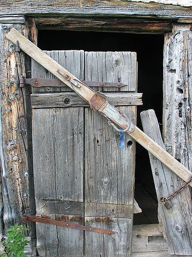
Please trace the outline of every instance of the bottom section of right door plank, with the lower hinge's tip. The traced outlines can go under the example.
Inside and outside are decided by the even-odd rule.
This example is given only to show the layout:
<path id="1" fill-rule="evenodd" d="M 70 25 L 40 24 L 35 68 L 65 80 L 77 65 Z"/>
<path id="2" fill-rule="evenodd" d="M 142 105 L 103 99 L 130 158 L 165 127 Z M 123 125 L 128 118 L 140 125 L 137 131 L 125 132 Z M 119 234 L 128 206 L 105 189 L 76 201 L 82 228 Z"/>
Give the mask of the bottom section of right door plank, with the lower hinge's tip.
<path id="1" fill-rule="evenodd" d="M 108 235 L 85 231 L 86 257 L 129 257 L 132 219 L 113 218 L 97 221 L 94 217 L 85 217 L 85 224 L 102 229 L 111 229 L 117 234 Z"/>

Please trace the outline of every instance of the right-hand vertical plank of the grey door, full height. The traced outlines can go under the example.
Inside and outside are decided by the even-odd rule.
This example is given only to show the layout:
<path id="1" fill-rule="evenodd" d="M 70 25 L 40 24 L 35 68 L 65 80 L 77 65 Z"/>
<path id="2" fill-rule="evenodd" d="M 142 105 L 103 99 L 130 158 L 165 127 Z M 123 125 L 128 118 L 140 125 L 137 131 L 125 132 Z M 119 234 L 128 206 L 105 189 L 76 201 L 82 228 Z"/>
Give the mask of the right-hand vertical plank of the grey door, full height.
<path id="1" fill-rule="evenodd" d="M 85 80 L 121 81 L 128 84 L 123 91 L 136 91 L 135 53 L 85 52 L 85 56 Z M 103 90 L 111 91 L 112 88 Z M 119 110 L 128 114 L 135 123 L 135 106 L 122 106 Z M 128 145 L 128 141 L 132 144 Z M 108 125 L 107 119 L 85 108 L 85 207 L 91 204 L 90 209 L 85 208 L 85 225 L 94 224 L 96 227 L 117 231 L 112 238 L 85 232 L 86 257 L 99 254 L 110 257 L 130 256 L 135 142 L 125 135 L 125 148 L 119 149 L 117 143 L 118 133 Z M 119 211 L 121 214 L 115 215 L 114 204 L 123 205 L 129 211 Z M 107 212 L 101 211 L 98 205 L 102 205 Z"/>

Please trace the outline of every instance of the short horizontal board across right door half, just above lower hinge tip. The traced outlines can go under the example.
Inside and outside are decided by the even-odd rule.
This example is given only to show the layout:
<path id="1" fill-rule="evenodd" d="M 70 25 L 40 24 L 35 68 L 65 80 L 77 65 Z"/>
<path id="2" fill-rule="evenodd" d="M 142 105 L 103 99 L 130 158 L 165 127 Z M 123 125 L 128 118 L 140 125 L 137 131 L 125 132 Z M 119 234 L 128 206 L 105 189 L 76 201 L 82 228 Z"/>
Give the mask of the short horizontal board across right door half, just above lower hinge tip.
<path id="1" fill-rule="evenodd" d="M 133 205 L 85 202 L 85 217 L 132 218 Z"/>

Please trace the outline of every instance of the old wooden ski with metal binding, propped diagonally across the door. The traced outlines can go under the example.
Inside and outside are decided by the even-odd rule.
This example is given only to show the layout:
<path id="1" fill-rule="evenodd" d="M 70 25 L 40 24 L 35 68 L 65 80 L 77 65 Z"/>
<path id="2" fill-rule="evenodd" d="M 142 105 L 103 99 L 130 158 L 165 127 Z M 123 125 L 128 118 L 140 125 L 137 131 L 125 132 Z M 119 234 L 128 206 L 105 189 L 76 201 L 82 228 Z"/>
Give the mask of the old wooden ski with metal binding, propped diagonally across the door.
<path id="1" fill-rule="evenodd" d="M 98 93 L 87 87 L 82 81 L 76 78 L 68 70 L 64 69 L 55 60 L 44 53 L 39 47 L 26 39 L 20 32 L 12 28 L 6 35 L 7 39 L 15 45 L 19 42 L 19 47 L 36 62 L 41 64 L 46 70 L 63 81 L 69 88 L 78 93 L 86 102 L 90 104 L 93 110 L 99 111 L 107 117 L 113 127 L 117 125 L 124 129 L 129 136 L 146 148 L 152 155 L 159 159 L 163 164 L 168 166 L 175 174 L 177 174 L 185 182 L 189 180 L 192 173 L 176 159 L 174 159 L 166 150 L 154 142 L 143 131 L 130 122 L 125 114 L 122 114 L 117 108 L 108 103 L 105 94 Z M 115 125 L 114 125 L 115 124 Z M 116 128 L 117 129 L 117 128 Z M 192 183 L 190 184 L 192 187 Z"/>

